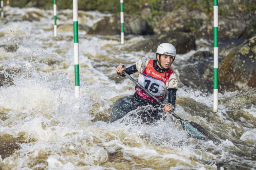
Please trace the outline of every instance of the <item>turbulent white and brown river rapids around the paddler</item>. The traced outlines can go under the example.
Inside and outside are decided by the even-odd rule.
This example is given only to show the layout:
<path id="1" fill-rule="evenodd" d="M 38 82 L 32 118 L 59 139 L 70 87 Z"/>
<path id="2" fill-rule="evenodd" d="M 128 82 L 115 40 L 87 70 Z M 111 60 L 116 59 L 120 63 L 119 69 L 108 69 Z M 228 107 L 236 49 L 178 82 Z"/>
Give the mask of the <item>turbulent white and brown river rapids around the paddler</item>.
<path id="1" fill-rule="evenodd" d="M 152 125 L 132 117 L 108 124 L 114 102 L 134 93 L 134 84 L 115 68 L 154 53 L 126 52 L 120 36 L 89 36 L 104 16 L 79 12 L 80 98 L 74 94 L 73 16 L 53 11 L 5 8 L 0 20 L 0 169 L 162 170 L 256 168 L 256 89 L 213 95 L 179 84 L 176 113 L 205 127 L 222 144 L 195 140 L 167 116 Z M 144 38 L 126 37 L 125 47 Z M 222 55 L 232 48 L 223 48 Z M 197 41 L 197 51 L 212 42 Z M 196 51 L 177 55 L 182 64 Z M 193 63 L 191 63 L 193 64 Z M 173 66 L 179 75 L 179 68 Z M 135 78 L 138 74 L 134 74 Z"/>

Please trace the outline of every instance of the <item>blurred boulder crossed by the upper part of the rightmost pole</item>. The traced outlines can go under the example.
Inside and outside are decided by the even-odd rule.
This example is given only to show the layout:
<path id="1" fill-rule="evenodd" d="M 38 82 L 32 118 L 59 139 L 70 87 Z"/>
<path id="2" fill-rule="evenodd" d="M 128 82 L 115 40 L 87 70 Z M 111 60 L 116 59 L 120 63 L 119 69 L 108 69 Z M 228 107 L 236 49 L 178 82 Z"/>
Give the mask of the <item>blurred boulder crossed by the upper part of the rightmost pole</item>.
<path id="1" fill-rule="evenodd" d="M 219 18 L 219 41 L 233 40 L 238 38 L 250 38 L 252 23 L 256 18 L 256 10 L 249 13 L 239 13 Z M 196 39 L 213 40 L 213 20 L 195 30 L 193 35 Z"/>

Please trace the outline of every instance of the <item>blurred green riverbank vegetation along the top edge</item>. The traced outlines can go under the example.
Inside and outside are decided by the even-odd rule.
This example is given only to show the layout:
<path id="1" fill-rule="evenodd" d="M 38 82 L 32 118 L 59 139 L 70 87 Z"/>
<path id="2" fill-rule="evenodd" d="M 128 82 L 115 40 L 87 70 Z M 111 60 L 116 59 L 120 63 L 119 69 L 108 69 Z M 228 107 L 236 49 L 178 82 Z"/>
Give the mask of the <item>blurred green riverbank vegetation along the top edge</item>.
<path id="1" fill-rule="evenodd" d="M 125 0 L 124 14 L 140 16 L 140 9 L 145 3 L 150 4 L 152 16 L 177 10 L 181 6 L 188 6 L 193 9 L 200 9 L 208 16 L 213 17 L 213 0 Z M 12 0 L 10 5 L 20 8 L 53 8 L 53 0 Z M 72 6 L 72 0 L 57 0 L 58 9 L 72 9 Z M 78 0 L 78 7 L 79 10 L 98 10 L 119 14 L 120 0 Z M 254 0 L 231 0 L 231 2 L 219 0 L 220 17 L 253 10 L 256 10 Z"/>

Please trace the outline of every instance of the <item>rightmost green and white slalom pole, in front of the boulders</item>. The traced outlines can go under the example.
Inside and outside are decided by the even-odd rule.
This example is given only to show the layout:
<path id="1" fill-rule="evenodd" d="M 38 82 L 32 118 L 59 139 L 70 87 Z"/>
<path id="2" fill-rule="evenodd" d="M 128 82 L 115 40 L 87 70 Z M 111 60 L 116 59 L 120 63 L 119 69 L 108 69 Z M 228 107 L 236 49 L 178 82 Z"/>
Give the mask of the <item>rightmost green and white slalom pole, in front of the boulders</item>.
<path id="1" fill-rule="evenodd" d="M 213 112 L 218 112 L 218 72 L 219 72 L 219 14 L 218 0 L 213 0 L 213 26 L 214 26 L 214 71 L 213 71 Z"/>

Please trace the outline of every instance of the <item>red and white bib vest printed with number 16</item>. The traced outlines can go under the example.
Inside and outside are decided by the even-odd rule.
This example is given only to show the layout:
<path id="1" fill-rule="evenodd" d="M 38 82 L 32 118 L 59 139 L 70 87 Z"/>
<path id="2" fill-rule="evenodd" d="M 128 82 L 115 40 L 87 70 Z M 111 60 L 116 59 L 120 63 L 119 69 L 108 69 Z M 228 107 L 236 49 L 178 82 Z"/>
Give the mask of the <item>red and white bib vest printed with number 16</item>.
<path id="1" fill-rule="evenodd" d="M 158 100 L 164 101 L 168 93 L 168 90 L 165 85 L 169 77 L 173 73 L 173 70 L 170 68 L 166 72 L 165 78 L 165 72 L 156 72 L 156 70 L 153 67 L 153 60 L 149 60 L 148 64 L 146 65 L 146 68 L 143 70 L 142 73 L 140 73 L 137 82 L 141 84 L 144 88 L 146 88 L 152 95 L 158 98 Z M 146 94 L 146 92 L 144 92 L 138 86 L 135 86 L 135 90 L 141 97 L 145 98 L 146 100 L 156 102 L 152 97 Z"/>

